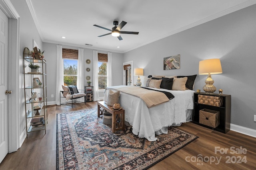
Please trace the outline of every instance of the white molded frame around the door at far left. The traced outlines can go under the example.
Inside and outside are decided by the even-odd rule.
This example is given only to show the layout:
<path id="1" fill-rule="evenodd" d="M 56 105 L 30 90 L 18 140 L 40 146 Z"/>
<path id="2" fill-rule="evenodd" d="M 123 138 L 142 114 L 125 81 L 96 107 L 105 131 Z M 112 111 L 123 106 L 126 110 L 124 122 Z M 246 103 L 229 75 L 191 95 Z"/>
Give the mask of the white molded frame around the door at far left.
<path id="1" fill-rule="evenodd" d="M 21 146 L 20 140 L 20 16 L 16 12 L 10 0 L 0 0 L 0 9 L 8 17 L 8 152 L 17 151 Z M 20 88 L 19 88 L 20 87 Z"/>

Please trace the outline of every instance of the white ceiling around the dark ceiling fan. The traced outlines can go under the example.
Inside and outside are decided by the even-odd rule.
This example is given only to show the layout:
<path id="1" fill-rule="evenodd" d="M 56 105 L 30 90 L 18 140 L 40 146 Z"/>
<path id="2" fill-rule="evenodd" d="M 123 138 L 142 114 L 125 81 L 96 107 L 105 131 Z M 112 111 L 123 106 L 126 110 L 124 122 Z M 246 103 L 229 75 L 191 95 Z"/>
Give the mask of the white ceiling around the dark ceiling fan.
<path id="1" fill-rule="evenodd" d="M 125 53 L 256 4 L 256 0 L 26 0 L 43 42 Z M 123 40 L 106 35 L 126 21 Z M 66 39 L 62 39 L 65 36 Z M 90 44 L 88 46 L 85 44 Z M 117 48 L 117 47 L 120 48 Z"/>

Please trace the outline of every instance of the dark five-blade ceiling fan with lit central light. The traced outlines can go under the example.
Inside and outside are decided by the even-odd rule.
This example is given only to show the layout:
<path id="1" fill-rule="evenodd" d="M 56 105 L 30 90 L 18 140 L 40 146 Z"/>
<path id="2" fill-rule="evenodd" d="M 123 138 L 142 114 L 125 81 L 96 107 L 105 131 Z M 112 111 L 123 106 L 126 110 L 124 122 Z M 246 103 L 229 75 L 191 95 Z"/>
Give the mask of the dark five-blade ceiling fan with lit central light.
<path id="1" fill-rule="evenodd" d="M 105 27 L 102 27 L 102 26 L 99 26 L 99 25 L 95 25 L 96 27 L 99 27 L 99 28 L 102 28 L 102 29 L 106 29 L 108 31 L 111 31 L 111 33 L 107 33 L 107 34 L 104 34 L 104 35 L 100 35 L 98 37 L 103 37 L 105 35 L 112 35 L 114 37 L 118 37 L 119 40 L 122 40 L 122 37 L 120 34 L 139 34 L 139 32 L 130 32 L 130 31 L 120 31 L 122 29 L 122 27 L 124 27 L 124 25 L 126 24 L 127 22 L 125 21 L 122 21 L 119 25 L 118 25 L 118 21 L 113 21 L 113 24 L 115 25 L 112 30 L 111 29 L 108 29 L 108 28 L 105 28 Z M 118 25 L 118 26 L 116 26 Z"/>

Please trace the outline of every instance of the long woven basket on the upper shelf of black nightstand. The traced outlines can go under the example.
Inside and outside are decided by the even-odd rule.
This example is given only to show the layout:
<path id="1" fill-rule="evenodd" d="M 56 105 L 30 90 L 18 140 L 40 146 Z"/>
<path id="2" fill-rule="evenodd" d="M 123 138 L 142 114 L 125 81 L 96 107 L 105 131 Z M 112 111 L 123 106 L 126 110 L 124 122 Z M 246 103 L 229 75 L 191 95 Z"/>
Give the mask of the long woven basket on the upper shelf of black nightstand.
<path id="1" fill-rule="evenodd" d="M 223 105 L 223 98 L 220 96 L 208 96 L 198 94 L 198 103 L 220 107 Z"/>

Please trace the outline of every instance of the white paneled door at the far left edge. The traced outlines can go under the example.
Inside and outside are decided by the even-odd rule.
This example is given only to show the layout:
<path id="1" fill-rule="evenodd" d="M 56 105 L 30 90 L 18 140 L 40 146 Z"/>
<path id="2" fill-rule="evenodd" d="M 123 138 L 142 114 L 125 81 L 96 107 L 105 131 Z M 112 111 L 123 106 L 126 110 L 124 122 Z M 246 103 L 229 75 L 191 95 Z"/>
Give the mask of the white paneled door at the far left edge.
<path id="1" fill-rule="evenodd" d="M 8 153 L 8 18 L 0 10 L 0 162 Z"/>

